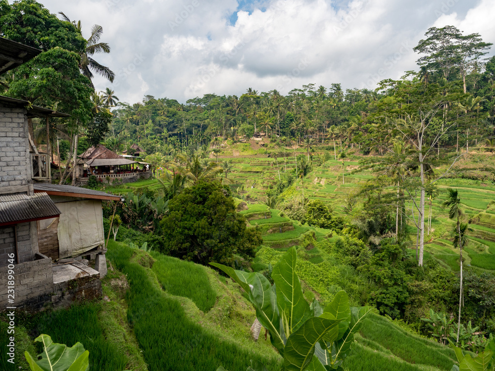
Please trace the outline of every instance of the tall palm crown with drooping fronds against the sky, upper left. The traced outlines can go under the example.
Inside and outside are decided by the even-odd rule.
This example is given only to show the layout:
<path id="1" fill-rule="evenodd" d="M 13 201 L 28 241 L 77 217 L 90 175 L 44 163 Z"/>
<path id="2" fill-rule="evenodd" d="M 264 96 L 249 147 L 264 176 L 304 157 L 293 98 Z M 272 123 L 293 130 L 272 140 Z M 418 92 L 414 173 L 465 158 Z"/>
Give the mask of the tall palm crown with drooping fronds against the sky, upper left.
<path id="1" fill-rule="evenodd" d="M 78 21 L 77 23 L 75 21 L 71 21 L 69 17 L 67 17 L 63 12 L 58 12 L 62 16 L 62 19 L 64 21 L 67 21 L 71 23 L 75 28 L 81 32 L 81 21 Z M 91 28 L 91 36 L 89 39 L 86 41 L 86 45 L 84 50 L 82 50 L 79 55 L 81 56 L 81 60 L 79 61 L 79 68 L 81 69 L 82 73 L 84 76 L 86 76 L 91 83 L 91 86 L 93 87 L 93 82 L 91 79 L 94 77 L 93 73 L 91 70 L 95 71 L 99 75 L 103 76 L 105 79 L 113 83 L 113 80 L 115 79 L 115 73 L 110 70 L 110 68 L 103 66 L 99 64 L 96 60 L 91 58 L 90 55 L 93 55 L 95 53 L 109 53 L 110 52 L 110 46 L 108 46 L 107 43 L 99 43 L 99 38 L 101 37 L 101 34 L 103 33 L 103 27 L 95 24 Z"/>

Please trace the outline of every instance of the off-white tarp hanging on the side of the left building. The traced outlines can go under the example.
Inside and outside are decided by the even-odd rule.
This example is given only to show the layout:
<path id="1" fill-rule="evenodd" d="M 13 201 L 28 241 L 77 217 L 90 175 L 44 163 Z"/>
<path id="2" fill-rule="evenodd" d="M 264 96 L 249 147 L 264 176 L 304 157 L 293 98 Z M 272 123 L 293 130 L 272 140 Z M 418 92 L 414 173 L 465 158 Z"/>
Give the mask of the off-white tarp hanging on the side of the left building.
<path id="1" fill-rule="evenodd" d="M 76 256 L 104 243 L 101 200 L 56 203 L 60 209 L 60 259 Z"/>

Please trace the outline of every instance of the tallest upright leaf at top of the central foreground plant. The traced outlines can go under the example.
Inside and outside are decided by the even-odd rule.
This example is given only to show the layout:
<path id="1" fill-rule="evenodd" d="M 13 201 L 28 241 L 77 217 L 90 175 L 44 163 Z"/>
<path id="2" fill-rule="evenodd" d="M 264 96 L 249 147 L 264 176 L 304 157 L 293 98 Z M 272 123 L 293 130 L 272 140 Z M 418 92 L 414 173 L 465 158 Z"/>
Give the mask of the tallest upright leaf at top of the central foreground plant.
<path id="1" fill-rule="evenodd" d="M 296 262 L 297 251 L 293 246 L 280 258 L 272 272 L 277 287 L 277 304 L 280 312 L 284 313 L 284 319 L 289 321 L 289 334 L 311 317 L 309 304 L 304 299 L 301 282 L 296 275 Z"/>

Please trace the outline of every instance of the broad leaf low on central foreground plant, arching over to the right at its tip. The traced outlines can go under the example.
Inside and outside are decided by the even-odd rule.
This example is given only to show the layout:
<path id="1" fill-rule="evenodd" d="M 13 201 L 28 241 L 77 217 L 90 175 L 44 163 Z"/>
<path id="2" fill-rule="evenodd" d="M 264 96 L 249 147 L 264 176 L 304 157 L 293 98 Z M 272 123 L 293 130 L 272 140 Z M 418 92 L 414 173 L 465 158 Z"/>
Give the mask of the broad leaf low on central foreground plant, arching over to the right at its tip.
<path id="1" fill-rule="evenodd" d="M 284 367 L 288 371 L 302 371 L 312 362 L 315 345 L 329 333 L 337 336 L 339 320 L 311 317 L 287 339 Z"/>

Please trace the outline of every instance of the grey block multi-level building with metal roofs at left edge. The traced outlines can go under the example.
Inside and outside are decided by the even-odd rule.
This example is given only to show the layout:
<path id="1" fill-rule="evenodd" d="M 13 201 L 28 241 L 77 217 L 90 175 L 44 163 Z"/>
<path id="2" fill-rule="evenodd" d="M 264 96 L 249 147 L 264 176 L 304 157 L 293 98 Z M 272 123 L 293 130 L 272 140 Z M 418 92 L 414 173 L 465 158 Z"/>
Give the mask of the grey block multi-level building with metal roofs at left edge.
<path id="1" fill-rule="evenodd" d="M 40 52 L 0 38 L 0 73 Z M 7 305 L 30 310 L 67 306 L 73 300 L 101 295 L 100 273 L 106 273 L 101 199 L 119 197 L 76 187 L 54 188 L 50 184 L 50 148 L 39 153 L 29 133 L 28 120 L 34 117 L 48 122 L 51 117 L 68 116 L 0 96 L 0 281 L 7 281 L 12 266 L 15 280 L 13 303 L 7 304 L 7 286 L 0 286 L 2 310 Z M 41 185 L 45 188 L 40 189 Z M 54 193 L 57 191 L 62 195 Z M 72 225 L 74 220 L 79 220 L 79 225 Z M 91 230 L 85 232 L 82 224 Z M 95 255 L 101 272 L 78 261 L 82 254 Z M 69 259 L 60 264 L 61 257 Z"/>

